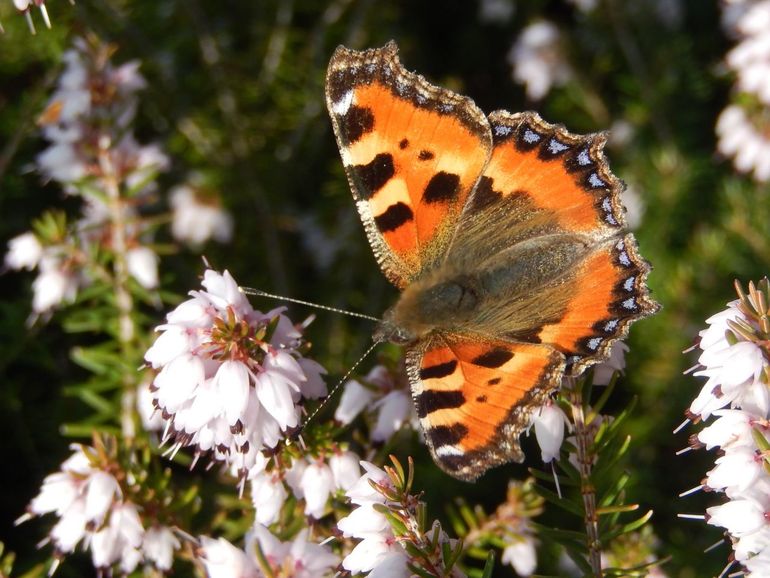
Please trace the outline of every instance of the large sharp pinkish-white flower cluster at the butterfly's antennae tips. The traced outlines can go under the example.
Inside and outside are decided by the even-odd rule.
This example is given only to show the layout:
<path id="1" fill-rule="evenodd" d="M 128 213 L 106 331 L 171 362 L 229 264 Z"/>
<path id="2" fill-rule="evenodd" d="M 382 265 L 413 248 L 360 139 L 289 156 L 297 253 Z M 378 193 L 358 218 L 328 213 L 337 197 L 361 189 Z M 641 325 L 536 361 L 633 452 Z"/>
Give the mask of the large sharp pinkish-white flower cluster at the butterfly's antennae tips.
<path id="1" fill-rule="evenodd" d="M 323 368 L 302 357 L 300 330 L 281 310 L 251 307 L 232 276 L 207 270 L 205 291 L 166 316 L 145 360 L 164 441 L 210 452 L 244 476 L 263 449 L 300 424 L 302 402 L 326 395 Z"/>

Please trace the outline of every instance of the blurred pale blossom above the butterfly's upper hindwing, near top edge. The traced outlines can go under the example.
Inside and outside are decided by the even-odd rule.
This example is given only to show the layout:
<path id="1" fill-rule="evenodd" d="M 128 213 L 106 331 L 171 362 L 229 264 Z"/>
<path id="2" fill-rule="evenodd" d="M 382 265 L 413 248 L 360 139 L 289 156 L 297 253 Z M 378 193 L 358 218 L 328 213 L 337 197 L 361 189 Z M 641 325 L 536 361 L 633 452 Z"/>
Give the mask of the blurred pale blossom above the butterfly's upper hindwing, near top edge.
<path id="1" fill-rule="evenodd" d="M 572 76 L 561 42 L 554 24 L 535 22 L 521 32 L 508 53 L 513 79 L 525 85 L 530 100 L 543 99 L 552 87 L 564 85 Z"/>

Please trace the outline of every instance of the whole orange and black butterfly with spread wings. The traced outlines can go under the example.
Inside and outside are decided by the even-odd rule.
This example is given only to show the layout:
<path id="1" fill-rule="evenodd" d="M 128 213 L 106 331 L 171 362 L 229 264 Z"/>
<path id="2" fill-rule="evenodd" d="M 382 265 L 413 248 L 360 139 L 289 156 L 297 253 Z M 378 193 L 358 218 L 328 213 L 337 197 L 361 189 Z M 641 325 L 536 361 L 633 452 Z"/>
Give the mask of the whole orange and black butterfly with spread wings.
<path id="1" fill-rule="evenodd" d="M 406 348 L 435 462 L 472 481 L 523 461 L 532 412 L 659 308 L 606 136 L 486 116 L 404 69 L 392 41 L 337 48 L 326 102 L 372 251 L 401 290 L 374 338 Z"/>

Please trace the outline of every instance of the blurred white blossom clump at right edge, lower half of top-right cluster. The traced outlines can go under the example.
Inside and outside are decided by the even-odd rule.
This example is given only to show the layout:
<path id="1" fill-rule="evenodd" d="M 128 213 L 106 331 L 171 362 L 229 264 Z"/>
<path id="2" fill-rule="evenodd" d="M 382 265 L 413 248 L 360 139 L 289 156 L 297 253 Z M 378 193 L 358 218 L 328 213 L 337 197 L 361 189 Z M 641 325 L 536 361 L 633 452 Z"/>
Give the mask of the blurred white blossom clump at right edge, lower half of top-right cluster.
<path id="1" fill-rule="evenodd" d="M 733 157 L 733 165 L 742 173 L 751 173 L 755 180 L 770 179 L 770 138 L 759 115 L 749 117 L 738 105 L 725 108 L 717 119 L 717 150 Z"/>

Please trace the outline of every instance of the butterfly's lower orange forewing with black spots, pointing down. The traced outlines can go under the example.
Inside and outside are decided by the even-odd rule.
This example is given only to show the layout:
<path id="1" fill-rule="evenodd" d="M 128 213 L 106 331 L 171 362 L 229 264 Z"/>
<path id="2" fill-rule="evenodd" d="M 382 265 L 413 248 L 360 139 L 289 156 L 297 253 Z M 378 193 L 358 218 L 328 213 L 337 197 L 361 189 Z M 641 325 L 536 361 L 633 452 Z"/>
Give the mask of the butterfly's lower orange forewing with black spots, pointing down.
<path id="1" fill-rule="evenodd" d="M 558 387 L 564 364 L 547 345 L 477 336 L 437 336 L 409 349 L 407 374 L 433 459 L 468 481 L 522 461 L 519 435 Z"/>

